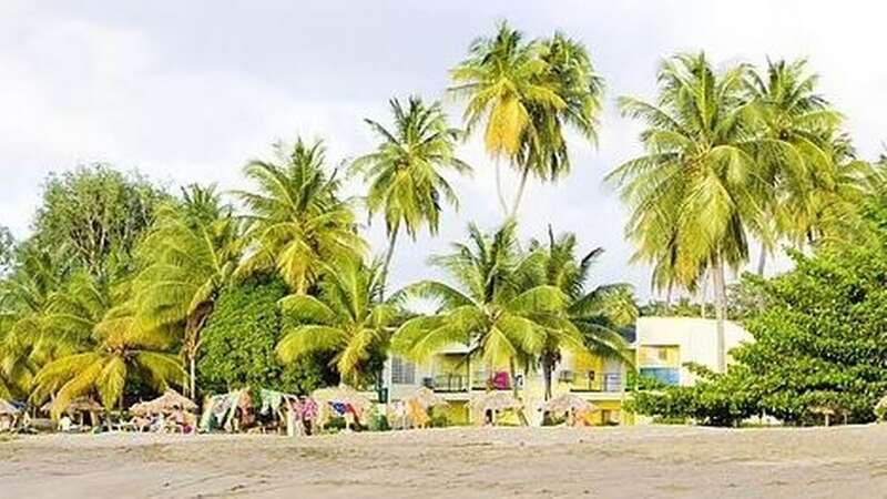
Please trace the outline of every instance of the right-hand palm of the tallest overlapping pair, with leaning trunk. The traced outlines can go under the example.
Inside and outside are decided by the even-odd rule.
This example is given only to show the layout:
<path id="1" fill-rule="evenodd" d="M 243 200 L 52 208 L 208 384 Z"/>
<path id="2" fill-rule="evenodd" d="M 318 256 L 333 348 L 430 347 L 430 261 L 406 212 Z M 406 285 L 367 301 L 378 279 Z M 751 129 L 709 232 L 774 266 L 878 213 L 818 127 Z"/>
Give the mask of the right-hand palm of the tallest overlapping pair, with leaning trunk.
<path id="1" fill-rule="evenodd" d="M 601 110 L 603 79 L 594 70 L 588 50 L 579 41 L 563 33 L 554 33 L 539 43 L 542 71 L 541 84 L 553 90 L 563 105 L 531 102 L 529 105 L 531 131 L 526 133 L 517 162 L 521 179 L 511 216 L 520 207 L 530 173 L 554 182 L 570 173 L 570 154 L 564 138 L 569 126 L 591 143 L 598 142 L 598 114 Z"/>

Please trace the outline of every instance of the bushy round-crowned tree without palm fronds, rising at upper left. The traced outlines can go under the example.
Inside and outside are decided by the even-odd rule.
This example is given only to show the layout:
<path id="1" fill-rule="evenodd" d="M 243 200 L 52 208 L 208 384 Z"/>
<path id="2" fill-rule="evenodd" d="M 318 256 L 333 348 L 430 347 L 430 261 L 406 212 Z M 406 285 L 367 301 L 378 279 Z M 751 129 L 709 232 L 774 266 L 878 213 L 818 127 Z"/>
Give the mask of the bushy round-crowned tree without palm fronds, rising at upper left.
<path id="1" fill-rule="evenodd" d="M 60 247 L 94 276 L 132 269 L 132 252 L 169 195 L 139 174 L 81 166 L 50 174 L 33 224 L 34 244 Z"/>

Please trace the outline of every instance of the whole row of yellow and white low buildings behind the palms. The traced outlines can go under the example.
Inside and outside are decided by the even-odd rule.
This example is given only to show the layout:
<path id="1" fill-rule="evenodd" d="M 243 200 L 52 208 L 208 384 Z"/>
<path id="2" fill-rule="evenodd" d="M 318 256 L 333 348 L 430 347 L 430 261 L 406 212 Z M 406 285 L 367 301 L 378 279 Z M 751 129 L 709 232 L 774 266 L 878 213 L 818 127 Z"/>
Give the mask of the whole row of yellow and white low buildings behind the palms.
<path id="1" fill-rule="evenodd" d="M 714 319 L 693 317 L 641 317 L 630 340 L 629 356 L 635 359 L 641 376 L 667 385 L 692 385 L 695 379 L 687 363 L 717 365 L 717 327 Z M 752 336 L 742 326 L 725 324 L 727 350 Z M 384 379 L 389 400 L 402 400 L 418 387 L 432 389 L 449 403 L 450 424 L 468 424 L 468 400 L 488 389 L 511 390 L 508 366 L 489 369 L 477 358 L 469 358 L 466 345 L 441 348 L 429 361 L 415 364 L 392 356 L 385 365 Z M 727 357 L 730 359 L 730 357 Z M 633 424 L 633 415 L 622 410 L 625 381 L 632 368 L 616 359 L 578 358 L 562 353 L 552 375 L 552 394 L 572 393 L 591 401 L 601 410 L 595 424 Z M 523 415 L 531 425 L 541 425 L 544 401 L 544 379 L 541 369 L 517 369 L 518 393 L 523 401 Z M 513 421 L 513 422 L 517 422 Z"/>

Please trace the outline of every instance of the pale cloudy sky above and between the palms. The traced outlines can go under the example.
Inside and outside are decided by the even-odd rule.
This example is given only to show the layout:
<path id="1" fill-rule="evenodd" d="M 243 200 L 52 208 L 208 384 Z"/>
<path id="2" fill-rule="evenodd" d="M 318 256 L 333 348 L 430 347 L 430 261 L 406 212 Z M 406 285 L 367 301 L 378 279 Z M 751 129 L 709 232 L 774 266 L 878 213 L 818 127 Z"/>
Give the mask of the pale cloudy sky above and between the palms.
<path id="1" fill-rule="evenodd" d="M 887 7 L 827 1 L 14 1 L 0 0 L 0 225 L 26 237 L 50 172 L 110 163 L 177 189 L 244 189 L 243 165 L 272 144 L 323 139 L 330 164 L 369 152 L 365 118 L 387 122 L 388 100 L 442 99 L 448 69 L 507 20 L 529 38 L 560 30 L 584 42 L 606 81 L 600 143 L 570 138 L 572 174 L 531 184 L 522 237 L 547 225 L 605 249 L 595 283 L 628 282 L 650 297 L 650 269 L 630 262 L 628 216 L 604 175 L 640 152 L 640 126 L 615 99 L 655 95 L 660 61 L 705 50 L 721 65 L 807 58 L 820 91 L 847 119 L 857 150 L 887 139 Z M 461 110 L 445 100 L 453 124 Z M 478 140 L 453 179 L 459 211 L 436 237 L 401 238 L 392 284 L 427 275 L 475 221 L 500 221 L 492 161 Z M 513 192 L 514 179 L 510 179 Z M 358 193 L 358 186 L 351 186 Z M 374 248 L 383 224 L 368 228 Z M 753 255 L 753 261 L 756 256 Z M 778 269 L 784 262 L 778 263 Z"/>

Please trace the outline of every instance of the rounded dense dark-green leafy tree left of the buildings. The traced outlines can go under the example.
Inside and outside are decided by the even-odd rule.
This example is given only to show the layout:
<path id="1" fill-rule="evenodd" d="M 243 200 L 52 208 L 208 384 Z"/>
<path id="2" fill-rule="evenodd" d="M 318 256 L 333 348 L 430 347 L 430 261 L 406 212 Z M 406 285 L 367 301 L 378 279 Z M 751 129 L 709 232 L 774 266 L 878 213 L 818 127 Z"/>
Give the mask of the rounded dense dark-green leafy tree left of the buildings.
<path id="1" fill-rule="evenodd" d="M 282 281 L 261 277 L 221 294 L 202 335 L 197 378 L 204 391 L 249 386 L 308 394 L 338 381 L 329 356 L 307 356 L 285 367 L 277 361 L 283 322 L 277 302 L 287 294 Z"/>

